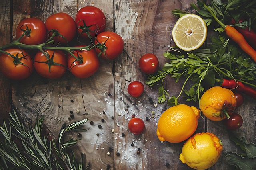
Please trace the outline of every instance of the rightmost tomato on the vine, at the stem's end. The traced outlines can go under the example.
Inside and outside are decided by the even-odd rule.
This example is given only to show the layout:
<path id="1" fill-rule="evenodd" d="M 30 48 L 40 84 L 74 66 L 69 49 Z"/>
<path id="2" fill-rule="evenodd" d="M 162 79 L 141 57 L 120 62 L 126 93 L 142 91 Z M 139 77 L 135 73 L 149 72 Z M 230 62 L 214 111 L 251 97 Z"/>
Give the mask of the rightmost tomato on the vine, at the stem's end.
<path id="1" fill-rule="evenodd" d="M 124 41 L 120 35 L 111 31 L 105 31 L 97 35 L 95 39 L 95 44 L 101 43 L 103 47 L 105 46 L 105 54 L 101 53 L 102 50 L 95 48 L 96 52 L 101 53 L 103 59 L 112 60 L 118 57 L 124 49 Z"/>

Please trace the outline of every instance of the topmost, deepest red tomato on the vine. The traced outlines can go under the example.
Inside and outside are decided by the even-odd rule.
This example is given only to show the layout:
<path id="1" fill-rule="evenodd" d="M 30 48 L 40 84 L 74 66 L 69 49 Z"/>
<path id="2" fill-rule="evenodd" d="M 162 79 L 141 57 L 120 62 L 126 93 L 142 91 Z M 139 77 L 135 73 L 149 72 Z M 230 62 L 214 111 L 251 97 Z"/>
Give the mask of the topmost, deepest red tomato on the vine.
<path id="1" fill-rule="evenodd" d="M 76 14 L 76 27 L 78 33 L 81 34 L 82 37 L 88 38 L 87 33 L 89 33 L 91 37 L 95 38 L 96 33 L 99 34 L 105 31 L 105 15 L 100 8 L 95 6 L 85 6 Z"/>

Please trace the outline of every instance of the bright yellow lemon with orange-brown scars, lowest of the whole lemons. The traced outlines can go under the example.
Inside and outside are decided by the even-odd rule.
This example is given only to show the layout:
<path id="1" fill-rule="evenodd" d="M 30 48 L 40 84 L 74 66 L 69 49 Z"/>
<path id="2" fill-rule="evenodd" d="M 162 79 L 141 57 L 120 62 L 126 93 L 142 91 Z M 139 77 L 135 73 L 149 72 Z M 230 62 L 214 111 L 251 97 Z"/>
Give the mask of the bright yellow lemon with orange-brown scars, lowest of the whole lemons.
<path id="1" fill-rule="evenodd" d="M 189 167 L 204 170 L 213 166 L 222 153 L 222 142 L 210 132 L 196 133 L 182 147 L 180 160 Z"/>

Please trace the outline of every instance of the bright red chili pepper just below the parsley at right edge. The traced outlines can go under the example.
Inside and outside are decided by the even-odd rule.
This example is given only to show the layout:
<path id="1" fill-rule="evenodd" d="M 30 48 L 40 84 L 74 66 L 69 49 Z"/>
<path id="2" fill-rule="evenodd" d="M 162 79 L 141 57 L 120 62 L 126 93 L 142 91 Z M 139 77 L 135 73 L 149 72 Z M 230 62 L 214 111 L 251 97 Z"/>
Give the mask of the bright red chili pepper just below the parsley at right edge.
<path id="1" fill-rule="evenodd" d="M 223 88 L 234 89 L 237 92 L 244 93 L 256 99 L 256 90 L 254 88 L 251 88 L 250 86 L 244 85 L 242 82 L 235 81 L 233 79 L 216 79 L 216 82 Z"/>

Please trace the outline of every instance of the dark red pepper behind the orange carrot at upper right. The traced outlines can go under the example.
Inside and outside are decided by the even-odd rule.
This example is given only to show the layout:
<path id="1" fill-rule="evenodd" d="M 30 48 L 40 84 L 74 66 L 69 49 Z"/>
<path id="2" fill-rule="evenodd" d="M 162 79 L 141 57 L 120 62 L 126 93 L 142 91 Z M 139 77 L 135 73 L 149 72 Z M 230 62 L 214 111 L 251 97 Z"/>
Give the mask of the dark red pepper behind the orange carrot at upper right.
<path id="1" fill-rule="evenodd" d="M 240 19 L 238 21 L 238 23 L 244 21 L 244 19 Z M 236 21 L 234 19 L 232 19 L 230 21 L 230 24 L 235 24 Z M 237 27 L 237 26 L 234 26 L 234 28 L 236 28 L 236 30 L 238 32 L 240 32 L 244 38 L 246 39 L 246 41 L 248 42 L 248 44 L 250 44 L 250 46 L 252 46 L 252 48 L 254 48 L 254 50 L 256 50 L 256 33 L 251 29 L 249 30 L 248 27 L 245 27 L 245 29 L 241 28 L 241 27 Z"/>

